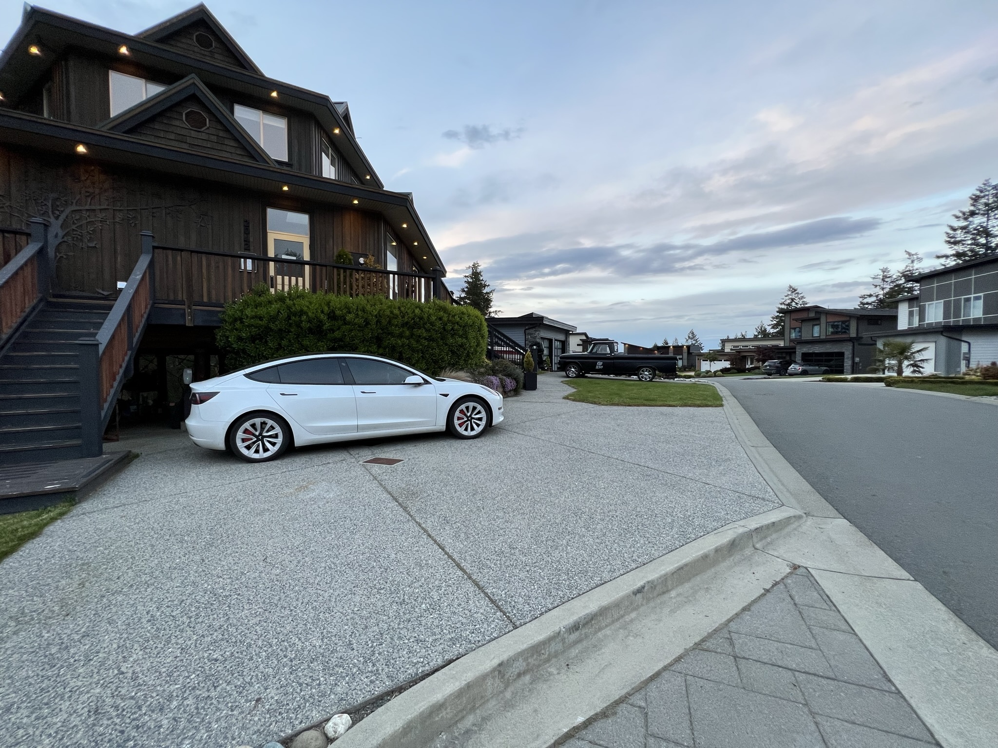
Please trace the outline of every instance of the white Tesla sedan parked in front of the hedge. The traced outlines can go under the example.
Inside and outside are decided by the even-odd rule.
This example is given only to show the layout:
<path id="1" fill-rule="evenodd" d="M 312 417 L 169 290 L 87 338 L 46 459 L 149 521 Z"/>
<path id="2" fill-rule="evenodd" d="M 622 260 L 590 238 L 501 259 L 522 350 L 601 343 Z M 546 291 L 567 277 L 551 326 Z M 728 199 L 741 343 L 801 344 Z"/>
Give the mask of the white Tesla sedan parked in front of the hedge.
<path id="1" fill-rule="evenodd" d="M 503 419 L 502 395 L 360 353 L 293 356 L 191 385 L 200 447 L 252 463 L 290 446 L 449 431 L 474 439 Z"/>

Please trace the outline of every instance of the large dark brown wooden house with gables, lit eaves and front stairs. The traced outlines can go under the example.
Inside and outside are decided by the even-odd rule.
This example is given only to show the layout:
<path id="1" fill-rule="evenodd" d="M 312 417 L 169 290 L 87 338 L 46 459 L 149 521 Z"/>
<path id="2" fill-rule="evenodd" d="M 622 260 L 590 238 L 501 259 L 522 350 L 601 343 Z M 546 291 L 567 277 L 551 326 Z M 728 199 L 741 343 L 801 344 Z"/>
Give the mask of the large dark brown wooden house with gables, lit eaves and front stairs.
<path id="1" fill-rule="evenodd" d="M 101 454 L 225 366 L 280 290 L 449 298 L 345 103 L 267 78 L 204 5 L 136 35 L 26 6 L 0 57 L 0 465 Z"/>

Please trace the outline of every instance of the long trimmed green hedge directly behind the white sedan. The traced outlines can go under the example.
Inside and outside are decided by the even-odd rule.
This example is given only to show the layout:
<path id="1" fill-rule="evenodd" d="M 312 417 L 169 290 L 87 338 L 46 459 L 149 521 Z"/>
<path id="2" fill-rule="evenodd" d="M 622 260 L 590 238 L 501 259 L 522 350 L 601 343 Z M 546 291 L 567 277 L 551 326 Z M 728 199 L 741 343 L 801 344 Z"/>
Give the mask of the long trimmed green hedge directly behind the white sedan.
<path id="1" fill-rule="evenodd" d="M 282 356 L 349 351 L 393 358 L 436 375 L 485 360 L 485 318 L 470 306 L 382 296 L 338 296 L 258 285 L 226 305 L 219 346 L 231 368 Z"/>

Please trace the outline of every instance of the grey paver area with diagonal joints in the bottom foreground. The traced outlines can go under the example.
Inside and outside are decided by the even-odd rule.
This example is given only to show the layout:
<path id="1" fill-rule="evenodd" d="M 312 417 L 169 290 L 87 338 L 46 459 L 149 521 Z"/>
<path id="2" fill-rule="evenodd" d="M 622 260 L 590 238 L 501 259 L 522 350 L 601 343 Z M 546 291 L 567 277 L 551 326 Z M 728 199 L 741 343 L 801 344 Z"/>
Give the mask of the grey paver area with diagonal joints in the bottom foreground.
<path id="1" fill-rule="evenodd" d="M 938 745 L 800 568 L 564 748 Z"/>

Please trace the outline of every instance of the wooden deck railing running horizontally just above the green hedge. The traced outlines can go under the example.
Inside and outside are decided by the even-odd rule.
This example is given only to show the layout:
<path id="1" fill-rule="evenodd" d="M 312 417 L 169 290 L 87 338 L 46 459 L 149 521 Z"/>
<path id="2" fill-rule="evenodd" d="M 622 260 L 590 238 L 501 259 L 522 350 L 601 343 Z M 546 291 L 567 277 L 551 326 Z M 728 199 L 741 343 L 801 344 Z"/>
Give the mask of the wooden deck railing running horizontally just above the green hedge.
<path id="1" fill-rule="evenodd" d="M 259 283 L 275 291 L 297 287 L 347 296 L 453 299 L 443 284 L 441 271 L 402 272 L 167 244 L 154 244 L 154 252 L 158 303 L 183 304 L 189 325 L 194 324 L 194 306 L 235 301 Z"/>

